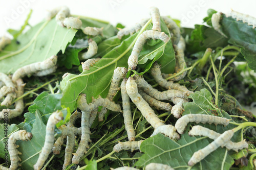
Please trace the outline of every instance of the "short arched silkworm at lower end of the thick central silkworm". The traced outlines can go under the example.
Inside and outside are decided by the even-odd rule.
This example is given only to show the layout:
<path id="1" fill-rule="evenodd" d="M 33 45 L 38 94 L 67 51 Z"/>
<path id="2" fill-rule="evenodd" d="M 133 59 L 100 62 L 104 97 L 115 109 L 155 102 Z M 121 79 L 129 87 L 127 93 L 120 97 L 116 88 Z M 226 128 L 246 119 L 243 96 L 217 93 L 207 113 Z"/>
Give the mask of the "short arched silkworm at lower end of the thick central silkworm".
<path id="1" fill-rule="evenodd" d="M 155 136 L 158 133 L 162 133 L 168 136 L 170 139 L 180 139 L 180 135 L 176 132 L 176 128 L 173 125 L 162 125 L 157 127 L 151 136 Z"/>

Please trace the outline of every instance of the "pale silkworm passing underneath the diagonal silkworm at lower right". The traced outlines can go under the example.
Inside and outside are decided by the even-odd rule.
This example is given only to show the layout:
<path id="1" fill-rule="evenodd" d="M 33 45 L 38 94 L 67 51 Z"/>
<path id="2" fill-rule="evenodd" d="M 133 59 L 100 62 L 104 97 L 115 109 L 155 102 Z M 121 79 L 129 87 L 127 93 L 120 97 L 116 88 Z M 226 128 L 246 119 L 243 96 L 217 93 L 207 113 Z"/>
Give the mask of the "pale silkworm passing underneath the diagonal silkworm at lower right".
<path id="1" fill-rule="evenodd" d="M 204 128 L 202 126 L 193 126 L 192 129 L 188 132 L 188 135 L 190 136 L 207 136 L 210 139 L 217 139 L 221 134 L 210 130 L 208 128 Z M 248 143 L 243 140 L 240 142 L 232 142 L 230 140 L 228 140 L 226 143 L 224 143 L 224 145 L 222 145 L 222 147 L 225 146 L 228 150 L 234 150 L 236 152 L 238 152 L 238 150 L 244 149 L 244 148 L 248 148 Z"/>

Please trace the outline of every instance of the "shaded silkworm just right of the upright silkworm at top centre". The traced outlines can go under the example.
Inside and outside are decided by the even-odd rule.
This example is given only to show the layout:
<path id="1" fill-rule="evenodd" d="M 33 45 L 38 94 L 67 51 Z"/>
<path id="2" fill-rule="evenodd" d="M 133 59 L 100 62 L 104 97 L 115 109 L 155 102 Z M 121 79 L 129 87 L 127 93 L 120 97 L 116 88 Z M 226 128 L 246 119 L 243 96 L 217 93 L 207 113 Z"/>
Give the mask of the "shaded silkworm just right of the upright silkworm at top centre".
<path id="1" fill-rule="evenodd" d="M 173 19 L 170 19 L 168 16 L 161 16 L 167 28 L 170 31 L 170 40 L 173 44 L 178 44 L 181 39 L 180 28 L 177 26 L 176 22 Z"/>

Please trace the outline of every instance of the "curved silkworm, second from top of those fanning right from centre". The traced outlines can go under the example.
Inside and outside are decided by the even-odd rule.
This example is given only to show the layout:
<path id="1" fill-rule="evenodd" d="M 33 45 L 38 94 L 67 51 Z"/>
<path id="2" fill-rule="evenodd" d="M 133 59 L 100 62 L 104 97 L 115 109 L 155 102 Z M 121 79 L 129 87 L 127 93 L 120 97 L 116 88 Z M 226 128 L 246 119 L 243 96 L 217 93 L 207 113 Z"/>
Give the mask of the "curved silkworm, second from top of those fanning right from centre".
<path id="1" fill-rule="evenodd" d="M 160 92 L 148 84 L 143 77 L 137 76 L 135 81 L 139 88 L 141 87 L 148 95 L 152 96 L 156 100 L 172 100 L 175 97 L 186 98 L 186 95 L 179 90 L 171 89 Z"/>

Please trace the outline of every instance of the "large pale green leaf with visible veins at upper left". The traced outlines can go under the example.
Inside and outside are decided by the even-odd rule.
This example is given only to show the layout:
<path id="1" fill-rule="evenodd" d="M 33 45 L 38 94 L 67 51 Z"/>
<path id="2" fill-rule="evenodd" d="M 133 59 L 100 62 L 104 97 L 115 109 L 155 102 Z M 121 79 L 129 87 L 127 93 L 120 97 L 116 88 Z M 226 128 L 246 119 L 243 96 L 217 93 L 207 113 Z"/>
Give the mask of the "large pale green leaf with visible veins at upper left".
<path id="1" fill-rule="evenodd" d="M 60 27 L 55 19 L 38 23 L 17 37 L 19 44 L 12 40 L 0 53 L 0 72 L 13 73 L 20 67 L 57 55 L 60 50 L 64 53 L 76 32 Z"/>

